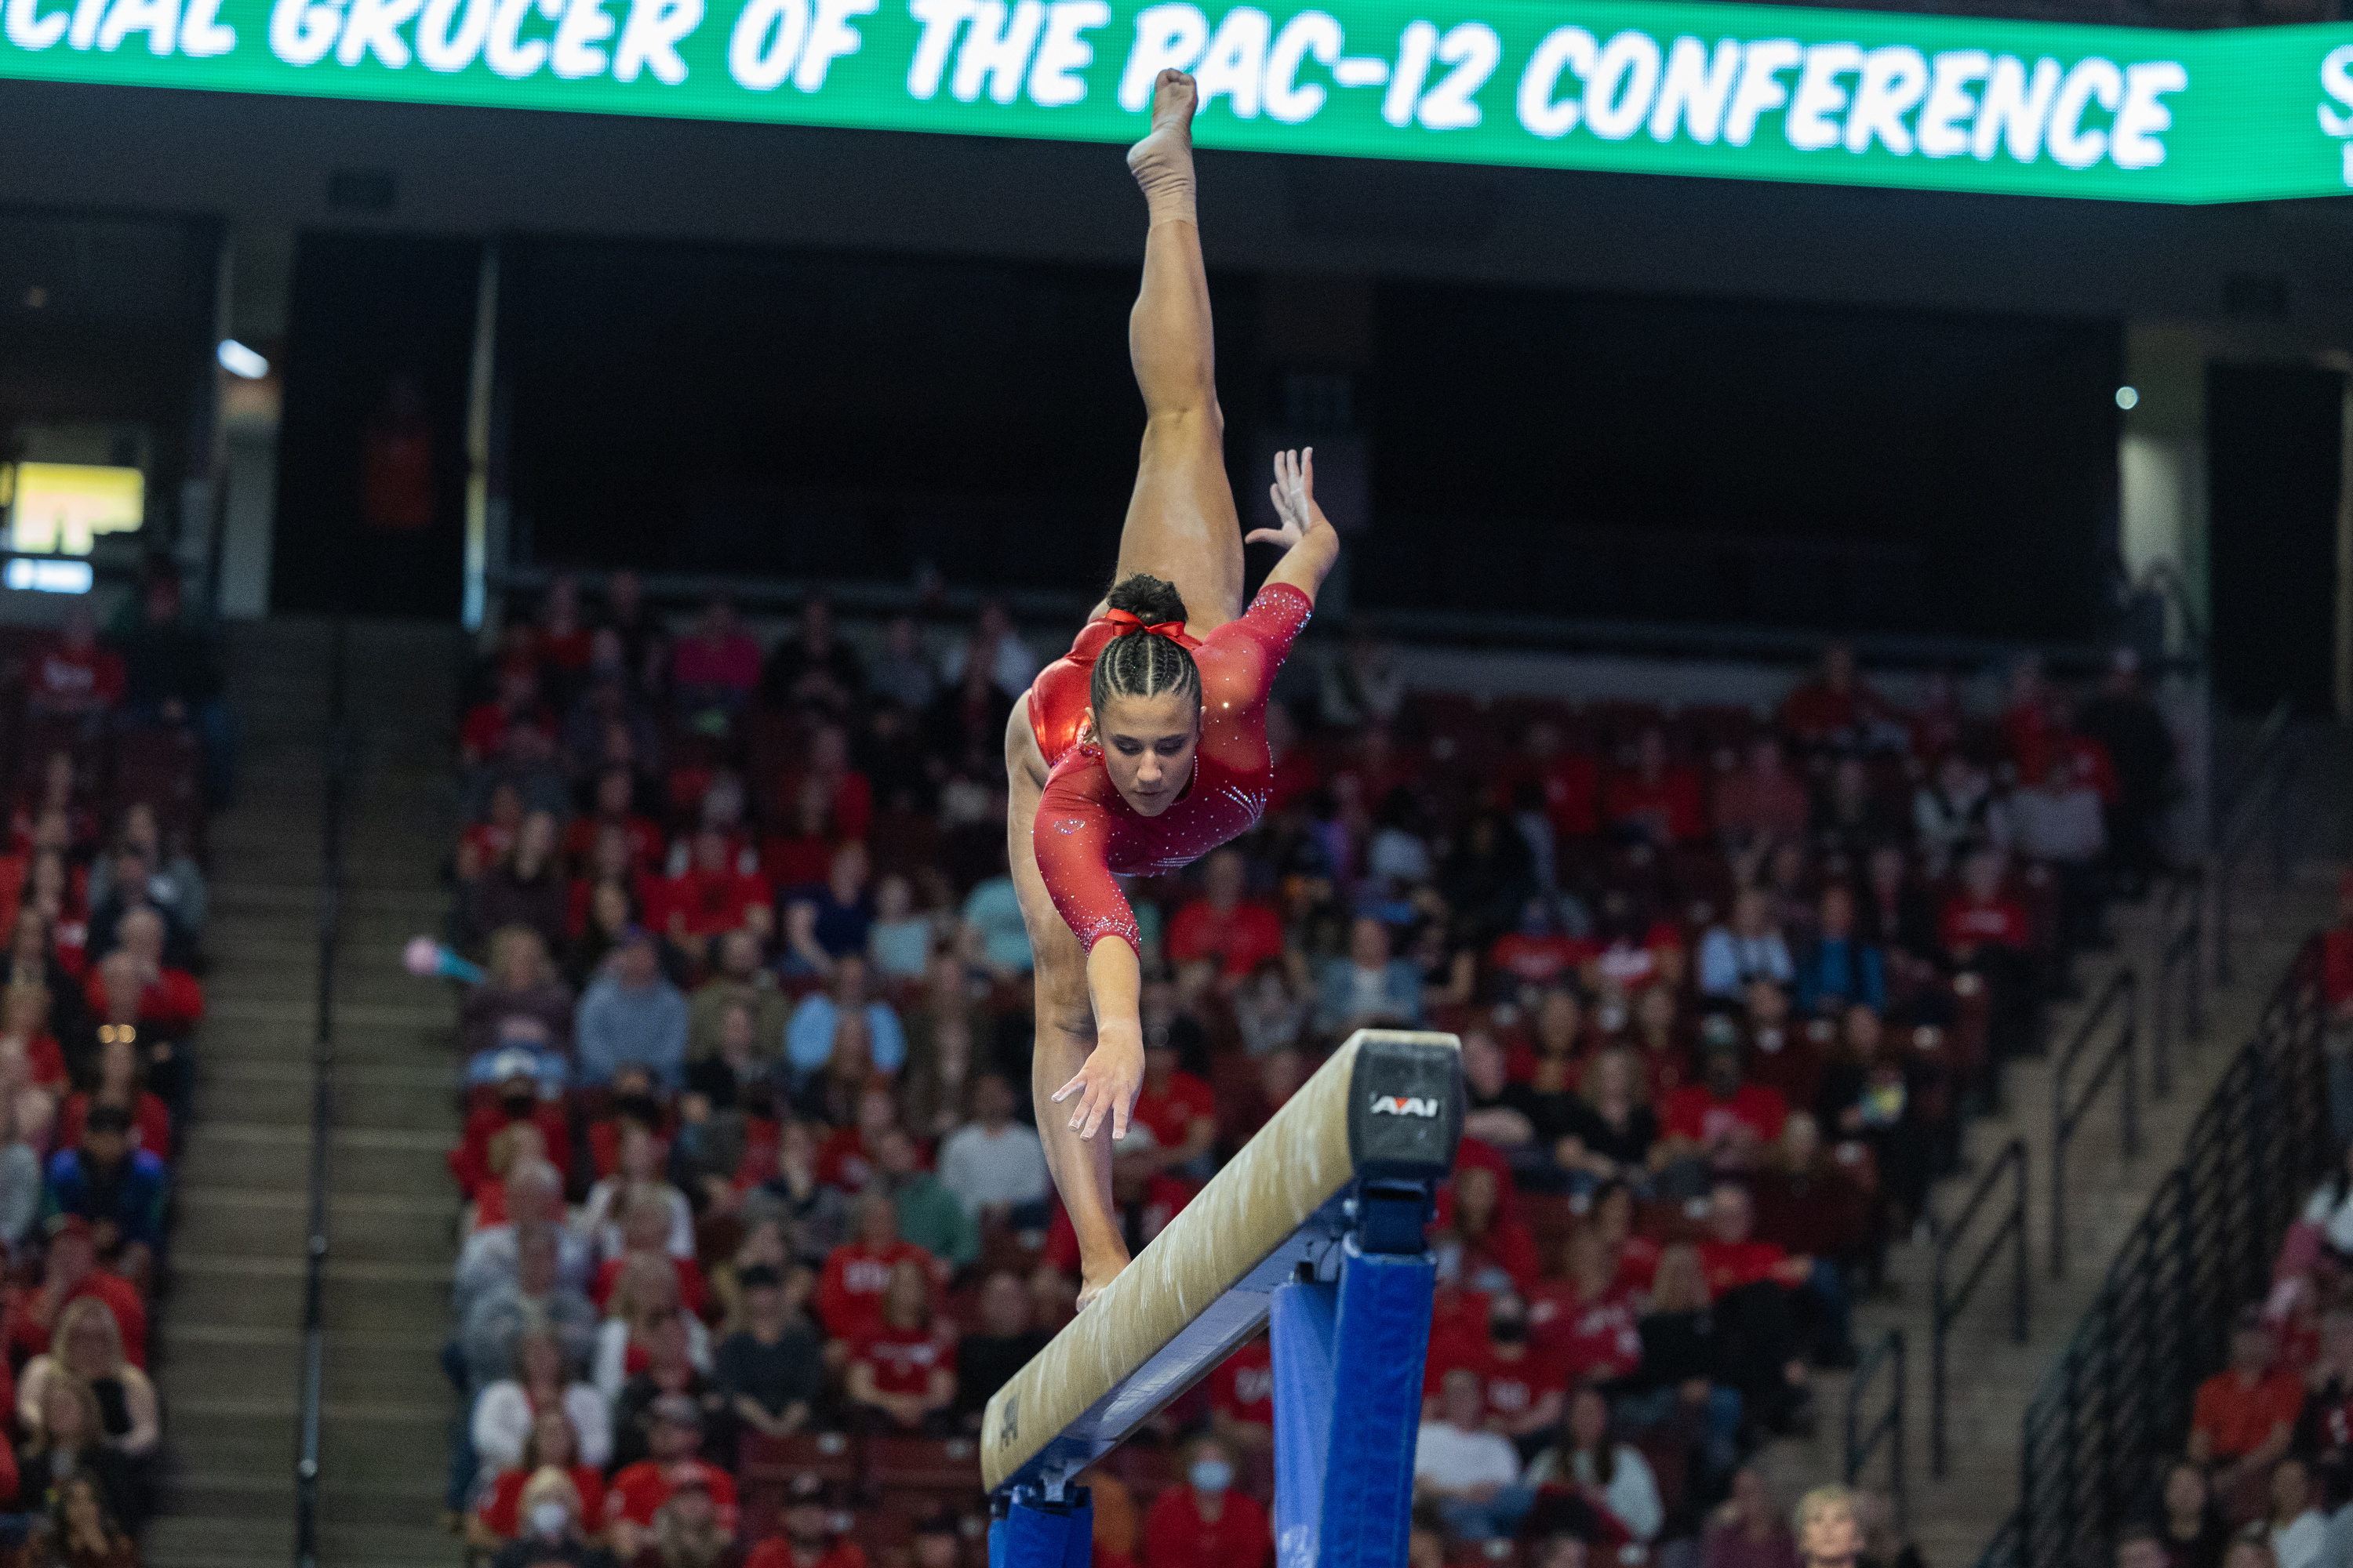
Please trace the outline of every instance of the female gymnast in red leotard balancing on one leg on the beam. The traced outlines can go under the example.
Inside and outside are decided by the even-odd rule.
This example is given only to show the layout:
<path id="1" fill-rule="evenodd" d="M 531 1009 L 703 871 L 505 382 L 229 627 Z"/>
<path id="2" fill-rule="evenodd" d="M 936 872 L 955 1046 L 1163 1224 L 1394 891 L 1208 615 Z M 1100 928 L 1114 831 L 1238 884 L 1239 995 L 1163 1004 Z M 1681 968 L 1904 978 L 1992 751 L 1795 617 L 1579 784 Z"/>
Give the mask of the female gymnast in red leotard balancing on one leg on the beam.
<path id="1" fill-rule="evenodd" d="M 1315 505 L 1315 451 L 1275 456 L 1282 550 L 1242 609 L 1242 524 L 1226 484 L 1209 282 L 1193 216 L 1193 78 L 1162 71 L 1127 153 L 1151 230 L 1127 353 L 1144 454 L 1111 595 L 1038 672 L 1005 729 L 1007 851 L 1038 980 L 1031 1088 L 1080 1251 L 1080 1305 L 1127 1267 L 1111 1145 L 1144 1084 L 1136 917 L 1115 875 L 1167 872 L 1266 809 L 1266 693 L 1339 557 Z M 1104 1133 L 1108 1126 L 1108 1135 Z"/>

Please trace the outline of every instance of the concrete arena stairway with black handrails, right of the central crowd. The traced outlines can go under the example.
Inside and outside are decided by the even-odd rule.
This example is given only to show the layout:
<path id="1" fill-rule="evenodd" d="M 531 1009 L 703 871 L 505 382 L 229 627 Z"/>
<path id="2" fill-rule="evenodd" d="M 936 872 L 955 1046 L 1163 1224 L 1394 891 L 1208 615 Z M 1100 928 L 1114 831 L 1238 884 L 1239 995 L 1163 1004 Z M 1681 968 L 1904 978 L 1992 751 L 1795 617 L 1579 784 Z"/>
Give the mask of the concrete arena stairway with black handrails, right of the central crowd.
<path id="1" fill-rule="evenodd" d="M 2334 835 L 2327 835 L 2334 839 Z M 2259 856 L 2257 856 L 2259 860 Z M 1967 1314 L 1953 1326 L 1948 1345 L 1948 1443 L 1951 1467 L 1944 1481 L 1929 1479 L 1929 1328 L 1932 1328 L 1932 1244 L 1897 1244 L 1889 1248 L 1889 1291 L 1857 1305 L 1854 1338 L 1859 1347 L 1901 1328 L 1908 1345 L 1906 1448 L 1911 1474 L 1911 1535 L 1932 1568 L 1969 1568 L 1979 1561 L 1995 1528 L 2017 1507 L 2019 1439 L 2026 1406 L 2045 1368 L 2075 1333 L 2082 1312 L 2099 1295 L 2111 1258 L 2139 1222 L 2148 1197 L 2174 1166 L 2188 1140 L 2191 1121 L 2205 1107 L 2224 1067 L 2254 1032 L 2289 959 L 2304 938 L 2337 914 L 2337 879 L 2344 865 L 2301 860 L 2273 886 L 2264 867 L 2247 867 L 2238 879 L 2233 910 L 2235 985 L 2207 990 L 2207 1032 L 2200 1044 L 2181 1044 L 2174 1034 L 2174 1088 L 2158 1100 L 2148 1093 L 2146 1051 L 2151 1030 L 2151 990 L 2155 978 L 2158 898 L 2111 910 L 2113 950 L 2082 954 L 2075 964 L 2080 1001 L 2052 1009 L 2049 1039 L 2066 1041 L 2085 1009 L 2118 966 L 2141 971 L 2141 1154 L 2127 1161 L 2118 1128 L 2115 1079 L 2101 1088 L 2094 1110 L 2068 1145 L 2068 1272 L 2049 1274 L 2049 1150 L 2052 1150 L 2052 1058 L 2031 1056 L 2005 1067 L 2002 1105 L 1977 1119 L 1967 1131 L 1965 1173 L 1946 1178 L 1932 1194 L 1934 1213 L 1955 1215 L 1972 1187 L 2012 1138 L 2028 1147 L 2028 1260 L 2033 1267 L 2033 1319 L 2028 1342 L 2009 1338 L 2009 1262 L 2007 1255 L 1988 1269 Z M 2212 973 L 2212 969 L 2207 971 Z M 2101 1037 L 2106 1039 L 2106 1034 Z M 2094 1046 L 2097 1051 L 2097 1046 Z M 2075 1070 L 2080 1086 L 2092 1058 Z M 2078 1088 L 2080 1093 L 2080 1088 Z M 1984 1234 L 2000 1220 L 2000 1194 L 1979 1215 Z M 1974 1246 L 1965 1246 L 1953 1267 L 1965 1269 Z M 1887 1373 L 1866 1394 L 1864 1422 L 1885 1408 Z M 1842 1410 L 1847 1373 L 1817 1375 L 1819 1427 L 1809 1441 L 1777 1441 L 1760 1462 L 1777 1495 L 1795 1500 L 1807 1486 L 1842 1474 Z M 1885 1488 L 1885 1460 L 1871 1465 L 1861 1483 Z"/>

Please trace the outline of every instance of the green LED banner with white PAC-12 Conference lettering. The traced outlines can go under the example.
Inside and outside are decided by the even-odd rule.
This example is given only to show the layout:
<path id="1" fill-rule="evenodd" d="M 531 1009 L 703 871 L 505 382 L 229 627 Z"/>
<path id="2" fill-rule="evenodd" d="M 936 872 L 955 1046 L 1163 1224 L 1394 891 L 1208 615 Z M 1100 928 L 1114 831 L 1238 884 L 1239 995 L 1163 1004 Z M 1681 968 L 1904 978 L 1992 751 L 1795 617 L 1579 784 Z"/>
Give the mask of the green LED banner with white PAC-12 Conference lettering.
<path id="1" fill-rule="evenodd" d="M 0 78 L 2129 202 L 2353 188 L 2353 28 L 1598 0 L 0 0 Z"/>

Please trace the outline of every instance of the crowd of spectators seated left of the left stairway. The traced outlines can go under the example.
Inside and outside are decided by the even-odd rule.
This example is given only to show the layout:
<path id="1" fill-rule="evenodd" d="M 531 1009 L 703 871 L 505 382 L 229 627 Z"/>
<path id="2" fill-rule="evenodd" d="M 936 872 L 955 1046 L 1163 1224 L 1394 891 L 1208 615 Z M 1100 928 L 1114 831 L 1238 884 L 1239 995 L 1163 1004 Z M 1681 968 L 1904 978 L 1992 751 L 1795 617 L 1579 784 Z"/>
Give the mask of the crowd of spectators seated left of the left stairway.
<path id="1" fill-rule="evenodd" d="M 172 1164 L 205 1018 L 207 806 L 233 783 L 212 635 L 151 562 L 0 646 L 0 1552 L 136 1568 Z"/>

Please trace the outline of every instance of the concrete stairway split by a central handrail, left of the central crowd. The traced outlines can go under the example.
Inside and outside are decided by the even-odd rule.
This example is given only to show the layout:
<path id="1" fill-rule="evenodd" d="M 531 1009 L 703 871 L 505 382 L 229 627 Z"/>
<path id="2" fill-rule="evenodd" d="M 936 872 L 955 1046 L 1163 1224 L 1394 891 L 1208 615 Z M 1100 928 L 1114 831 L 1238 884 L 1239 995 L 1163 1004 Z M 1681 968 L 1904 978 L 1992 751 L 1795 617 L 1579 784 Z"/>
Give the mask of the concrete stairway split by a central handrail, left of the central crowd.
<path id="1" fill-rule="evenodd" d="M 461 654 L 447 628 L 351 630 L 322 1563 L 456 1559 L 435 1528 L 454 1408 L 435 1371 L 454 1253 L 452 1011 L 402 973 L 400 945 L 447 910 L 435 865 L 456 823 Z M 231 635 L 245 769 L 212 823 L 209 1016 L 160 1333 L 172 1483 L 148 1537 L 158 1568 L 280 1568 L 294 1549 L 327 668 L 325 623 Z"/>

